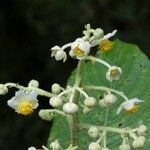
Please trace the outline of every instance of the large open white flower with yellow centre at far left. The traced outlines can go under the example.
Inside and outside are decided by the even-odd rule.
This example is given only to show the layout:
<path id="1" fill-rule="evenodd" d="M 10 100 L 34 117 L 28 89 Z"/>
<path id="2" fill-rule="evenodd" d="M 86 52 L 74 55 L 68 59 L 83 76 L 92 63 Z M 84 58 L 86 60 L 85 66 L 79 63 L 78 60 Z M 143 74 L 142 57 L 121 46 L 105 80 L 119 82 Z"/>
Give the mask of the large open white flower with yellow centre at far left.
<path id="1" fill-rule="evenodd" d="M 22 115 L 31 114 L 33 109 L 36 109 L 39 105 L 36 92 L 26 93 L 23 90 L 17 91 L 15 96 L 8 100 L 7 104 Z"/>

